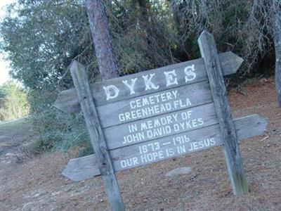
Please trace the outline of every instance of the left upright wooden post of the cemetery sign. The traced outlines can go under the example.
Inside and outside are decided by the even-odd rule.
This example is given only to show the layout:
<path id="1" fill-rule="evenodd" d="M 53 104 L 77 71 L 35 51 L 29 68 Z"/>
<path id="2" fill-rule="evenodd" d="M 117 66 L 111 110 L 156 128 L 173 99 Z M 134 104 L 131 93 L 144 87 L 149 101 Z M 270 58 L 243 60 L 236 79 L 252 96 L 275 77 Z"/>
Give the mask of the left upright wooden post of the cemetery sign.
<path id="1" fill-rule="evenodd" d="M 89 131 L 91 143 L 96 154 L 96 159 L 103 178 L 105 191 L 112 210 L 125 210 L 121 193 L 113 170 L 110 154 L 107 150 L 105 137 L 100 127 L 91 89 L 89 87 L 86 70 L 83 65 L 73 61 L 70 72 L 79 98 L 81 110 L 84 114 L 86 127 Z"/>

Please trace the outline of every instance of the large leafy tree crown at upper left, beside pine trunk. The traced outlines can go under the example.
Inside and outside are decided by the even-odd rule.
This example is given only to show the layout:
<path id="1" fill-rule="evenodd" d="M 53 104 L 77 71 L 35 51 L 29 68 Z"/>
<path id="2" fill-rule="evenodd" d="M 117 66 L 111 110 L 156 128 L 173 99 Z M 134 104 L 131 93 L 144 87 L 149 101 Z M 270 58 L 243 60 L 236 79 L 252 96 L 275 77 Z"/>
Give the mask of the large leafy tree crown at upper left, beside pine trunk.
<path id="1" fill-rule="evenodd" d="M 72 58 L 90 46 L 86 12 L 78 2 L 18 1 L 8 8 L 1 50 L 26 88 L 55 89 Z"/>

